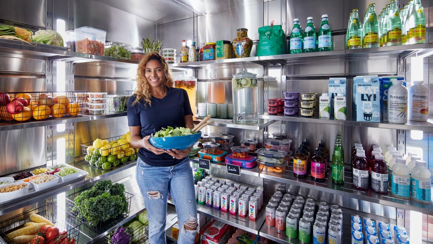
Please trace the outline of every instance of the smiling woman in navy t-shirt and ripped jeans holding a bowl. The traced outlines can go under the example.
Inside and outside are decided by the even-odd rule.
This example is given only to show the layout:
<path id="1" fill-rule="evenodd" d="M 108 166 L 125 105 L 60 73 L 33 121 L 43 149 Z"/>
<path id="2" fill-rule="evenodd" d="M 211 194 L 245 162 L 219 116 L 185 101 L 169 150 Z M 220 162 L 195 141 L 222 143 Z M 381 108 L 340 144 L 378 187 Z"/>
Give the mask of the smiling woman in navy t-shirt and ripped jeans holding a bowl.
<path id="1" fill-rule="evenodd" d="M 194 179 L 187 156 L 191 148 L 162 150 L 149 143 L 150 135 L 163 127 L 194 127 L 187 92 L 172 86 L 173 78 L 165 59 L 151 52 L 138 65 L 137 88 L 128 99 L 131 144 L 139 148 L 136 178 L 145 196 L 152 244 L 166 243 L 168 192 L 181 226 L 178 243 L 194 243 L 197 232 Z"/>

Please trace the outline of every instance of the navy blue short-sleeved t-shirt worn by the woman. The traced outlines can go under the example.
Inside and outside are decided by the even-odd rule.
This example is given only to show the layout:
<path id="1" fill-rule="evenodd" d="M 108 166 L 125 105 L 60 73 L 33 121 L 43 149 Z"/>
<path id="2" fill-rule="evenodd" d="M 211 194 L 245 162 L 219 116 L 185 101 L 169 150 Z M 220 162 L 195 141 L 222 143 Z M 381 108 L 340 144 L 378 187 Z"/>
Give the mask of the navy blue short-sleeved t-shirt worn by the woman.
<path id="1" fill-rule="evenodd" d="M 135 99 L 136 96 L 128 99 L 128 126 L 140 126 L 143 138 L 163 127 L 185 127 L 185 115 L 192 115 L 187 91 L 181 88 L 167 87 L 167 95 L 162 99 L 152 96 L 151 105 L 145 106 L 139 101 L 132 106 Z M 140 159 L 151 166 L 174 166 L 184 160 L 174 159 L 168 153 L 156 155 L 145 148 L 140 148 L 138 153 Z"/>

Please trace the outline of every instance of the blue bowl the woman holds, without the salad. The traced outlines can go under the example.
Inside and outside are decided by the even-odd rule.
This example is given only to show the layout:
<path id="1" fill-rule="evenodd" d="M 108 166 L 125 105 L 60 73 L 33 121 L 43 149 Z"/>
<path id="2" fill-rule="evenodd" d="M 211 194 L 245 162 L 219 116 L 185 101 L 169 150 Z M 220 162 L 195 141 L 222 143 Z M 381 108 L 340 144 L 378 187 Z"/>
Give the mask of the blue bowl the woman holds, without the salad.
<path id="1" fill-rule="evenodd" d="M 152 146 L 164 150 L 184 150 L 194 145 L 200 139 L 200 137 L 201 131 L 196 134 L 179 137 L 150 137 L 149 142 L 152 144 Z"/>

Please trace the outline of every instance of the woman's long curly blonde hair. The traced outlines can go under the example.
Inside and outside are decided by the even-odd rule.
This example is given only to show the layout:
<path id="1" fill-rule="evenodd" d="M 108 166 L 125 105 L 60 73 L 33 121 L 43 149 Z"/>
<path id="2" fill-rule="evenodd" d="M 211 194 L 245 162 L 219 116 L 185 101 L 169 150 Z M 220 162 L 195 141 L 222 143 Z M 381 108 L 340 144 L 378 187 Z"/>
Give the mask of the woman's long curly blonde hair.
<path id="1" fill-rule="evenodd" d="M 151 105 L 150 98 L 152 98 L 152 87 L 146 79 L 145 71 L 146 64 L 150 60 L 156 60 L 164 68 L 165 73 L 165 84 L 168 87 L 173 87 L 173 78 L 171 76 L 170 68 L 168 68 L 167 62 L 165 62 L 164 57 L 158 54 L 158 52 L 150 52 L 146 54 L 138 64 L 137 68 L 137 88 L 134 91 L 136 100 L 132 102 L 132 105 L 136 104 L 140 100 L 144 102 L 144 105 Z"/>

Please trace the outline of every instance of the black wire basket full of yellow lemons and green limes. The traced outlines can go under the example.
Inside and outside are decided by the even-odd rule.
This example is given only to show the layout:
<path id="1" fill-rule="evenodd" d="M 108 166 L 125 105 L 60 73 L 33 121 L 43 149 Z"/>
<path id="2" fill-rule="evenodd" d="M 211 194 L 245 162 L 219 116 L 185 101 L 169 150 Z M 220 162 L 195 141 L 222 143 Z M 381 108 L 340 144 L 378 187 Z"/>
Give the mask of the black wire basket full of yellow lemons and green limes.
<path id="1" fill-rule="evenodd" d="M 117 141 L 122 136 L 110 137 L 103 140 Z M 81 144 L 84 161 L 86 164 L 97 167 L 98 169 L 111 169 L 124 163 L 129 163 L 137 159 L 138 150 L 133 148 L 130 143 L 117 143 L 109 149 L 94 149 L 93 141 Z M 92 146 L 92 147 L 90 147 Z"/>

